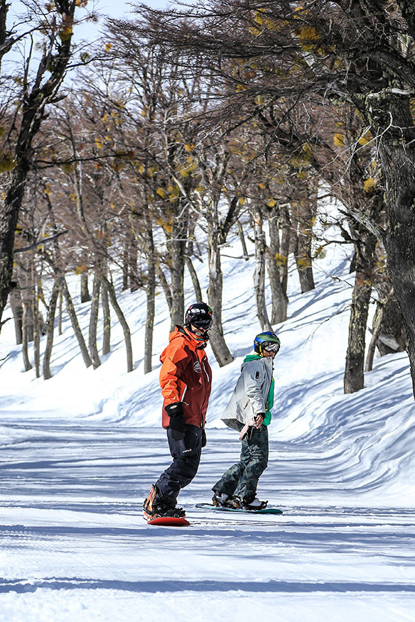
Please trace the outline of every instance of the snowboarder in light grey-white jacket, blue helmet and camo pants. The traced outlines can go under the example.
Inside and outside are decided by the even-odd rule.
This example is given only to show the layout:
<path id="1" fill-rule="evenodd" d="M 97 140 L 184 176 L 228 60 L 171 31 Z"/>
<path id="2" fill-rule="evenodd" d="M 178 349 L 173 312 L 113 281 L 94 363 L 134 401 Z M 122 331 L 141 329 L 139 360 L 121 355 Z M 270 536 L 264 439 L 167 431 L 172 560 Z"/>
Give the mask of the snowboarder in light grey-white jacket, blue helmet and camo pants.
<path id="1" fill-rule="evenodd" d="M 273 361 L 279 346 L 275 332 L 261 332 L 254 339 L 255 354 L 243 361 L 241 375 L 222 416 L 226 425 L 239 431 L 241 457 L 212 487 L 213 505 L 252 510 L 266 507 L 267 502 L 257 498 L 257 485 L 268 465 Z"/>

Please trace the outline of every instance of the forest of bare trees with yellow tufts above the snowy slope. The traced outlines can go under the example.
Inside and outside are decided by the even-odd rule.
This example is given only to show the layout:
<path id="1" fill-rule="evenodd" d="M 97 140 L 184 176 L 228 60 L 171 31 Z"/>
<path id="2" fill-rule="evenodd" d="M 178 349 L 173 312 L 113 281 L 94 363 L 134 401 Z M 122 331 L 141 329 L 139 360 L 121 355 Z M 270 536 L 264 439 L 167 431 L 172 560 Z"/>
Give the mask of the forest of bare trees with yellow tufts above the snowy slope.
<path id="1" fill-rule="evenodd" d="M 72 41 L 77 23 L 94 19 L 86 0 L 23 4 L 17 30 L 0 0 L 0 327 L 9 301 L 26 370 L 34 361 L 50 378 L 66 313 L 87 367 L 100 366 L 120 322 L 131 371 L 114 285 L 122 274 L 124 290 L 147 297 L 151 371 L 156 289 L 172 326 L 181 323 L 186 271 L 195 300 L 214 310 L 214 356 L 230 363 L 221 252 L 232 232 L 239 261 L 248 235 L 255 246 L 252 304 L 263 330 L 287 317 L 289 256 L 304 293 L 326 245 L 353 245 L 344 391 L 362 388 L 376 348 L 407 349 L 415 387 L 412 1 L 138 6 L 134 19 L 107 21 L 89 47 Z M 17 49 L 23 61 L 7 62 Z M 328 200 L 341 218 L 324 214 Z M 324 236 L 329 225 L 335 240 Z M 68 288 L 73 274 L 90 303 L 88 334 Z"/>

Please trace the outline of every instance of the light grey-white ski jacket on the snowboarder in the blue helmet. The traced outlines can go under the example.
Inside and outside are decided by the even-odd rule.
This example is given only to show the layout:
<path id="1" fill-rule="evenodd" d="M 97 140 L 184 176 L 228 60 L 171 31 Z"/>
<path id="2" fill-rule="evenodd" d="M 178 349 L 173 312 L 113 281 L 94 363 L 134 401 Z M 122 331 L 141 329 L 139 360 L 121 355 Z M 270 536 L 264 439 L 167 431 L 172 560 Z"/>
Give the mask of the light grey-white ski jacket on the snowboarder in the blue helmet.
<path id="1" fill-rule="evenodd" d="M 265 413 L 273 379 L 273 357 L 249 356 L 243 361 L 241 375 L 222 415 L 222 421 L 235 430 L 258 413 Z"/>

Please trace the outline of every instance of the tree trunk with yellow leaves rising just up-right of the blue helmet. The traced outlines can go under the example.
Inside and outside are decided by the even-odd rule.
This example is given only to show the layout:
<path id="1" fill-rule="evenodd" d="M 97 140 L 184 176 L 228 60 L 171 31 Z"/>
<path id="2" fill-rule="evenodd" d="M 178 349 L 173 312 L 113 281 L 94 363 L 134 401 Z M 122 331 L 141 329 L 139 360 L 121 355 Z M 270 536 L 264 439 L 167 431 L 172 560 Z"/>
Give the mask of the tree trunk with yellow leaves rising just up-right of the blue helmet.
<path id="1" fill-rule="evenodd" d="M 279 324 L 287 319 L 288 296 L 281 283 L 281 267 L 286 264 L 286 258 L 282 258 L 279 245 L 279 224 L 276 214 L 268 218 L 270 231 L 270 245 L 266 252 L 266 263 L 270 278 L 270 290 L 273 300 L 271 324 Z"/>

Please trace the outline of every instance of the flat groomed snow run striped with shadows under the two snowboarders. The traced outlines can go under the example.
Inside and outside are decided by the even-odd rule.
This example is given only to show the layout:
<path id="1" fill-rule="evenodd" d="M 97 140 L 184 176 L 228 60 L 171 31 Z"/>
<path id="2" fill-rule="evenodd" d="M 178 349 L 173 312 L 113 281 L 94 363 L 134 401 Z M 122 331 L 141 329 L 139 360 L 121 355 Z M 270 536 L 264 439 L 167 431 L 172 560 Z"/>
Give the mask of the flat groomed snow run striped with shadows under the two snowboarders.
<path id="1" fill-rule="evenodd" d="M 239 443 L 209 431 L 179 529 L 140 509 L 169 464 L 162 430 L 32 419 L 1 435 L 1 622 L 415 621 L 415 511 L 361 491 L 353 504 L 341 451 L 271 442 L 260 493 L 284 514 L 219 517 L 194 503 Z"/>

